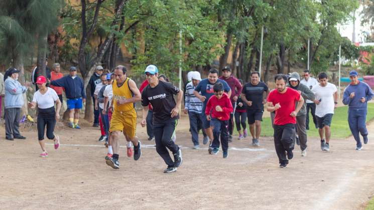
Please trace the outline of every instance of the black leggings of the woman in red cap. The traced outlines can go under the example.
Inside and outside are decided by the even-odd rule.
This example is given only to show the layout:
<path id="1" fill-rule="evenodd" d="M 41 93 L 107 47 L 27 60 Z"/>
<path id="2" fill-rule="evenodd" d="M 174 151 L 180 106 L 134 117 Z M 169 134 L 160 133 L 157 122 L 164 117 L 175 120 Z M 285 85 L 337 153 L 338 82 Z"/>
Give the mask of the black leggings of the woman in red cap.
<path id="1" fill-rule="evenodd" d="M 47 138 L 54 139 L 55 134 L 53 131 L 55 130 L 56 125 L 56 118 L 55 118 L 55 107 L 47 108 L 47 109 L 38 109 L 38 139 L 39 141 L 44 140 L 44 130 L 47 125 Z"/>

